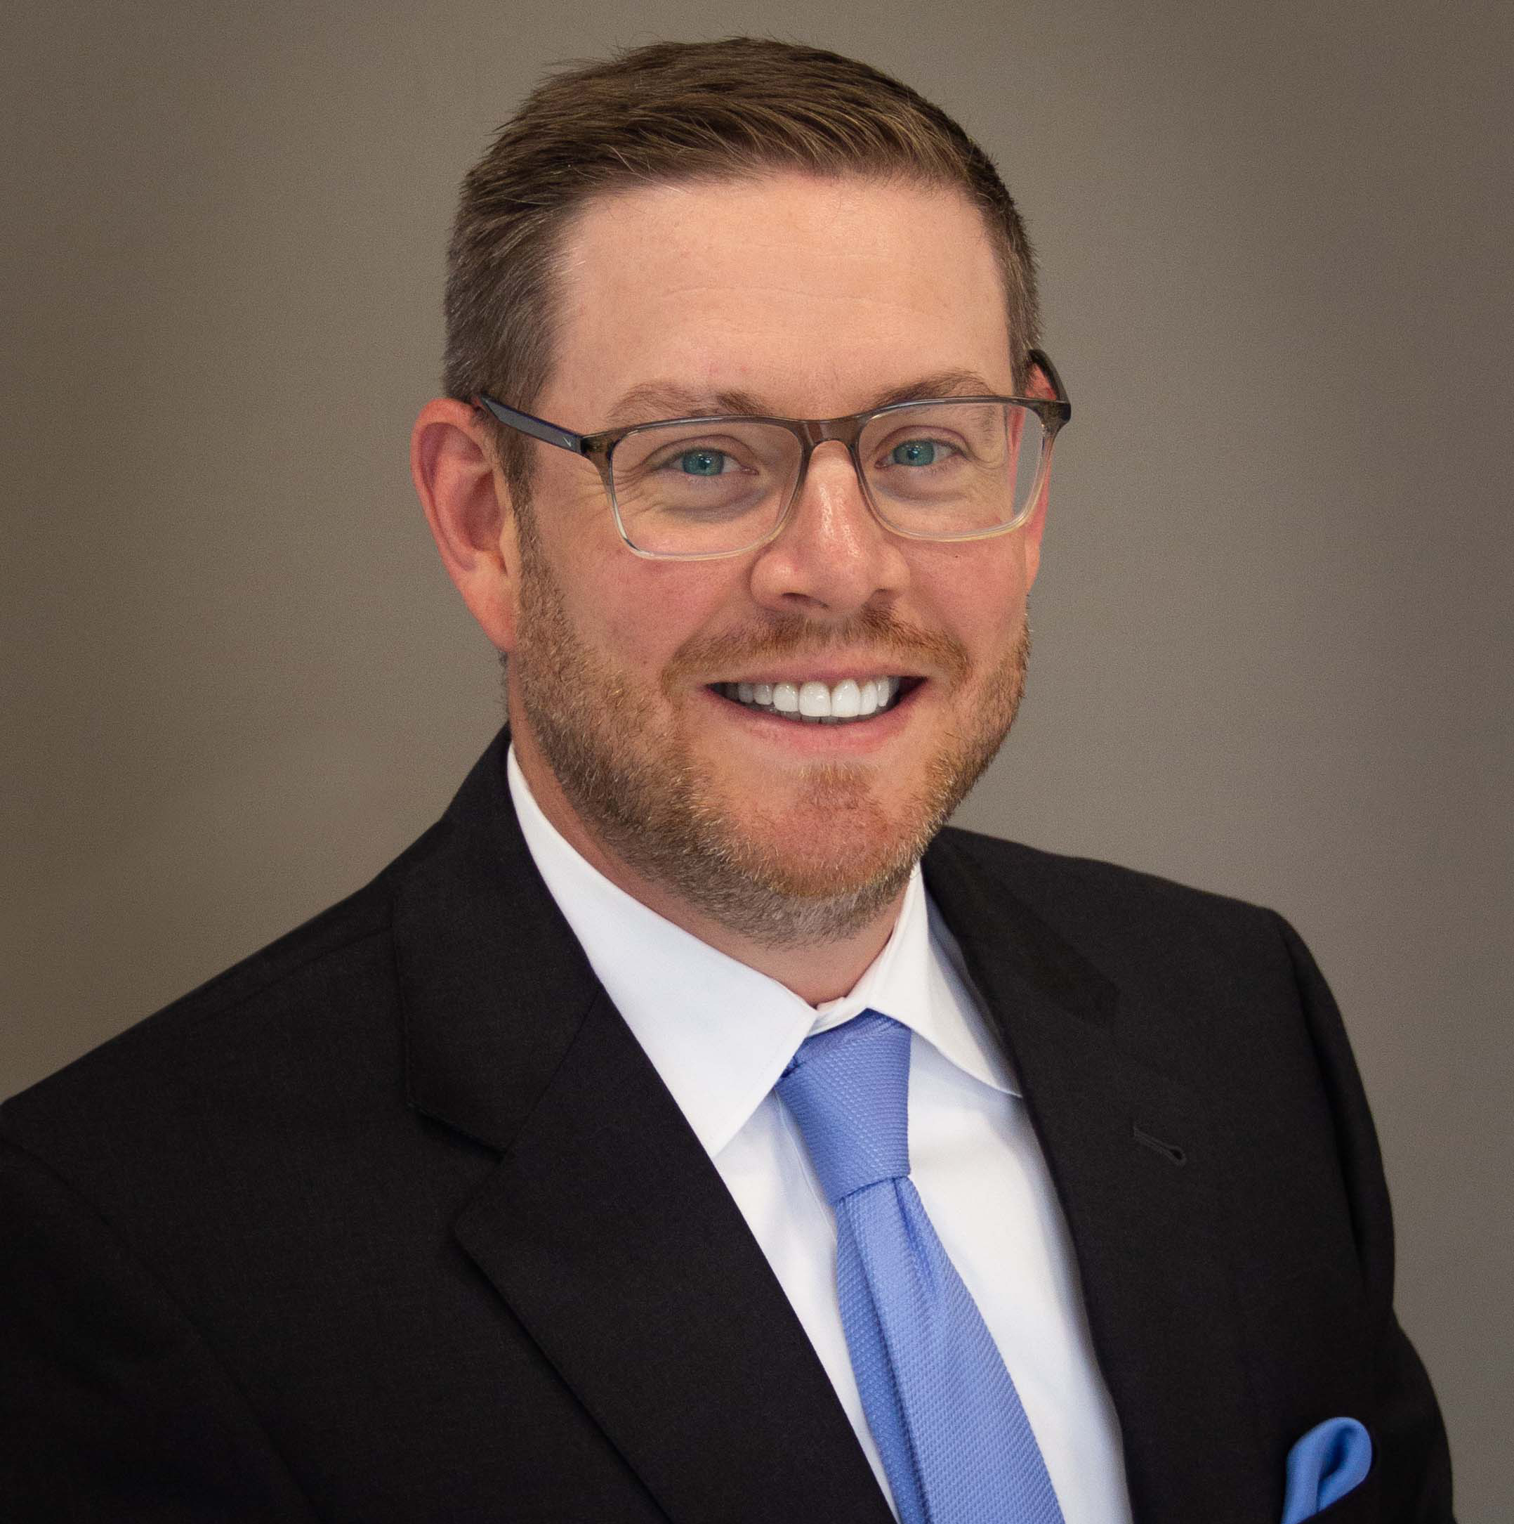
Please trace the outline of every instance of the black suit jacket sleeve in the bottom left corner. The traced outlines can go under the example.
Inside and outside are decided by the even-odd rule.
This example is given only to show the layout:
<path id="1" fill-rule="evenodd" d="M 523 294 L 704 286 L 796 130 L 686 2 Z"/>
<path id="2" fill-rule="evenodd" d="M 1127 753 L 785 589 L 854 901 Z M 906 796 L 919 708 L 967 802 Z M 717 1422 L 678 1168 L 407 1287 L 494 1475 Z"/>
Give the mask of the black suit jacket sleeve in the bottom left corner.
<path id="1" fill-rule="evenodd" d="M 56 1173 L 3 1140 L 0 1516 L 315 1518 L 163 1288 Z"/>

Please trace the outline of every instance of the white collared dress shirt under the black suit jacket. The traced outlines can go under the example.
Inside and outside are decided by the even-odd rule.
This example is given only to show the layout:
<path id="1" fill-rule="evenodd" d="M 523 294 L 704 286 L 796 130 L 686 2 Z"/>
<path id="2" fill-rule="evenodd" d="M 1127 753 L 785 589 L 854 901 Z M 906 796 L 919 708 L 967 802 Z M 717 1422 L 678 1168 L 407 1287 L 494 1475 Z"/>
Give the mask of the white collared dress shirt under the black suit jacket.
<path id="1" fill-rule="evenodd" d="M 1062 1207 L 920 870 L 883 951 L 850 994 L 816 1007 L 611 884 L 542 814 L 513 748 L 507 770 L 547 888 L 768 1256 L 890 1506 L 841 1326 L 835 1218 L 772 1093 L 807 1036 L 867 1009 L 911 1029 L 909 1173 L 1008 1366 L 1063 1519 L 1129 1524 L 1120 1426 Z"/>

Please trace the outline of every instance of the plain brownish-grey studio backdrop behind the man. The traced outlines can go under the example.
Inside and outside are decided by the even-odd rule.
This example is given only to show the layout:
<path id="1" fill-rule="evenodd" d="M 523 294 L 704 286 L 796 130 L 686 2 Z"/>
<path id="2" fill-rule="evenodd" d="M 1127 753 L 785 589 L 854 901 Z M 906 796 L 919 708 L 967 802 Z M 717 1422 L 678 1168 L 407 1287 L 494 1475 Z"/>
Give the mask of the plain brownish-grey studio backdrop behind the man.
<path id="1" fill-rule="evenodd" d="M 1514 1515 L 1509 14 L 12 0 L 0 1094 L 364 881 L 498 722 L 405 468 L 489 130 L 614 44 L 839 47 L 999 160 L 1075 402 L 963 818 L 1301 928 L 1461 1518 Z"/>

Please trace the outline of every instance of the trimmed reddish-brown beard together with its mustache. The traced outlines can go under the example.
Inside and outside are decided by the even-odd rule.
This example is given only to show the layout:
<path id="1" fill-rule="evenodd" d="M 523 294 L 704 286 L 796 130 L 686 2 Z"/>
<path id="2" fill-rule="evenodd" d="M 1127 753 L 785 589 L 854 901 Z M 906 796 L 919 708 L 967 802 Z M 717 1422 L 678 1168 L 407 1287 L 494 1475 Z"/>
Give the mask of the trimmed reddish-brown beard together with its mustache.
<path id="1" fill-rule="evenodd" d="M 890 814 L 874 796 L 873 764 L 826 762 L 803 771 L 798 797 L 781 809 L 746 800 L 739 814 L 682 724 L 678 703 L 690 675 L 850 648 L 903 657 L 902 671 L 925 658 L 960 692 L 970 675 L 966 649 L 886 613 L 864 611 L 844 625 L 777 616 L 749 632 L 685 642 L 660 692 L 649 693 L 579 639 L 529 515 L 519 550 L 509 661 L 522 718 L 568 803 L 644 879 L 759 945 L 839 940 L 876 920 L 993 760 L 1025 690 L 1030 628 L 1022 620 L 969 706 L 973 724 L 940 733 L 902 809 Z"/>

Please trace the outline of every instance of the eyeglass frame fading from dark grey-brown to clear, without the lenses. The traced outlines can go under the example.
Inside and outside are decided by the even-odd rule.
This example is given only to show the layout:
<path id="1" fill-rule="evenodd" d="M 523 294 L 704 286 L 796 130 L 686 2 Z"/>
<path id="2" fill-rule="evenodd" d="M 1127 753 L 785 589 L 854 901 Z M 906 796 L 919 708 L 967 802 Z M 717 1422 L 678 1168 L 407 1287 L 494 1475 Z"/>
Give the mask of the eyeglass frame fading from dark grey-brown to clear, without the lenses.
<path id="1" fill-rule="evenodd" d="M 794 504 L 800 500 L 804 491 L 804 479 L 809 474 L 810 454 L 816 445 L 826 443 L 829 440 L 836 440 L 847 447 L 847 453 L 851 457 L 853 469 L 858 475 L 858 483 L 862 489 L 862 498 L 868 506 L 868 511 L 893 535 L 902 535 L 906 539 L 932 539 L 932 541 L 961 541 L 961 539 L 989 539 L 995 535 L 1007 535 L 1019 529 L 1034 511 L 1036 503 L 1040 501 L 1042 494 L 1046 488 L 1046 479 L 1051 471 L 1051 447 L 1057 437 L 1057 433 L 1069 422 L 1072 418 L 1072 402 L 1068 399 L 1066 387 L 1062 383 L 1062 376 L 1057 373 L 1057 367 L 1051 363 L 1051 357 L 1040 349 L 1031 349 L 1027 355 L 1030 364 L 1033 364 L 1046 381 L 1051 384 L 1056 396 L 946 396 L 946 398 L 923 398 L 911 399 L 908 402 L 890 402 L 885 407 L 868 408 L 865 413 L 848 413 L 842 418 L 768 418 L 763 415 L 705 415 L 699 418 L 667 418 L 653 419 L 644 424 L 629 424 L 623 428 L 605 428 L 593 434 L 579 434 L 571 428 L 564 428 L 561 424 L 550 424 L 547 419 L 535 418 L 530 413 L 522 413 L 519 408 L 510 407 L 507 402 L 501 402 L 487 393 L 480 392 L 474 396 L 472 402 L 477 408 L 487 410 L 493 418 L 497 418 L 507 428 L 513 428 L 518 433 L 527 434 L 532 439 L 539 439 L 542 443 L 554 445 L 559 450 L 567 450 L 571 454 L 582 456 L 585 460 L 594 463 L 599 469 L 600 480 L 605 485 L 605 495 L 609 498 L 611 514 L 615 520 L 615 530 L 620 535 L 624 547 L 637 556 L 647 561 L 719 561 L 727 556 L 746 555 L 751 550 L 768 544 L 775 539 L 781 532 L 784 524 L 794 514 Z M 982 404 L 996 402 L 1007 404 L 1024 408 L 1025 413 L 1033 416 L 1040 428 L 1040 456 L 1034 475 L 1034 482 L 1030 488 L 1027 500 L 1021 504 L 1019 511 L 1001 524 L 993 524 L 987 529 L 967 529 L 967 530 L 952 530 L 952 532 L 934 532 L 921 529 L 906 529 L 900 524 L 893 523 L 886 512 L 879 506 L 874 498 L 873 489 L 868 483 L 868 472 L 862 465 L 862 459 L 858 453 L 858 442 L 862 437 L 864 428 L 871 424 L 876 418 L 902 415 L 909 410 L 920 410 L 929 407 L 940 407 L 943 402 L 966 402 L 966 404 Z M 783 504 L 781 511 L 777 514 L 774 523 L 763 530 L 755 539 L 743 546 L 736 546 L 733 549 L 722 550 L 647 550 L 638 546 L 626 530 L 626 524 L 621 520 L 620 503 L 615 495 L 615 471 L 614 471 L 614 456 L 615 447 L 632 434 L 644 433 L 647 430 L 661 430 L 673 425 L 690 425 L 690 427 L 710 427 L 720 424 L 766 424 L 777 428 L 786 428 L 798 440 L 801 454 L 800 466 L 794 477 L 794 486 L 789 491 L 787 501 Z"/>

